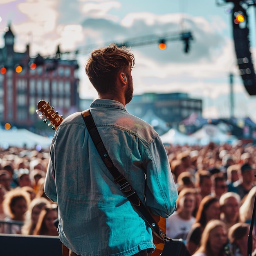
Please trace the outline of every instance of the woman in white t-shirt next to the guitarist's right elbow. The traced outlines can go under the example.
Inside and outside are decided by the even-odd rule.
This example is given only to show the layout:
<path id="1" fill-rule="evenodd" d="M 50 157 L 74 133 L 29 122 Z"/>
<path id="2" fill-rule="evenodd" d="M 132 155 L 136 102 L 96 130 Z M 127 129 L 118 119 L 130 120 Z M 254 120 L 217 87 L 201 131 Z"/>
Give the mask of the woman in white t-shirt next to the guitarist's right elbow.
<path id="1" fill-rule="evenodd" d="M 186 240 L 189 229 L 195 222 L 193 211 L 195 209 L 194 190 L 184 188 L 177 198 L 176 211 L 166 219 L 166 236 Z"/>

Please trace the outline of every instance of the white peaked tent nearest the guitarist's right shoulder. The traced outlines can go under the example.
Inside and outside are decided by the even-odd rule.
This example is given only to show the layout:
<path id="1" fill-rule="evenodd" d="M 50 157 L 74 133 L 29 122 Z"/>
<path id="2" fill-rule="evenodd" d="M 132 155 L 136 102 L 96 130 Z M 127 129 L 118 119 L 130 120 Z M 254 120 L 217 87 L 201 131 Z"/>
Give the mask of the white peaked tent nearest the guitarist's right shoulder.
<path id="1" fill-rule="evenodd" d="M 162 139 L 162 142 L 164 144 L 193 146 L 198 143 L 198 140 L 196 138 L 183 134 L 174 128 L 168 130 L 168 132 L 160 136 L 160 138 Z"/>

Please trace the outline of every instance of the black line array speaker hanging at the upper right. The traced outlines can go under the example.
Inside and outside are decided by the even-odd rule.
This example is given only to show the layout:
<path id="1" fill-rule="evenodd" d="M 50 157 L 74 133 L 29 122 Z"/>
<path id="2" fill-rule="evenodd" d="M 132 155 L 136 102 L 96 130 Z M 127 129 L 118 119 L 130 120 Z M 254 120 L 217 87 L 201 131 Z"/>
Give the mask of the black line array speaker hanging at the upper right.
<path id="1" fill-rule="evenodd" d="M 236 16 L 238 14 L 243 14 L 245 18 L 241 23 L 236 22 Z M 252 63 L 252 54 L 250 52 L 248 16 L 246 10 L 239 4 L 234 6 L 232 24 L 237 64 L 243 79 L 243 84 L 250 95 L 256 95 L 256 75 Z"/>

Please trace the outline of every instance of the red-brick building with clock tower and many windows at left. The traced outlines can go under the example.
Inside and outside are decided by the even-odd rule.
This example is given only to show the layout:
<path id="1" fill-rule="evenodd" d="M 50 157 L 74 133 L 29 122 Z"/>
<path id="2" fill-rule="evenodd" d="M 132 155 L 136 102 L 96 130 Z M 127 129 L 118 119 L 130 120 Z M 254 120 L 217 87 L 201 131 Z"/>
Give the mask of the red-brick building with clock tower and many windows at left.
<path id="1" fill-rule="evenodd" d="M 14 34 L 4 34 L 0 49 L 0 123 L 29 128 L 38 120 L 37 103 L 49 101 L 61 115 L 79 110 L 79 79 L 76 60 L 61 59 L 59 49 L 52 58 L 29 56 L 29 45 L 23 53 L 14 52 Z M 31 69 L 31 63 L 37 63 Z M 22 71 L 16 72 L 20 65 Z"/>

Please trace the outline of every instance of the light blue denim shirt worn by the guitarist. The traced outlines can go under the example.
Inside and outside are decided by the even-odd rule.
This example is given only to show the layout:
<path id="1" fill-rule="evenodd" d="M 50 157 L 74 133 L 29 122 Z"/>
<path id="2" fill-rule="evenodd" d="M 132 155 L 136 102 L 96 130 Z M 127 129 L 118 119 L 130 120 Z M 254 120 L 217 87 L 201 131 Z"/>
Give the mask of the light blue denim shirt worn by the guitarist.
<path id="1" fill-rule="evenodd" d="M 170 216 L 177 190 L 157 132 L 118 101 L 97 99 L 90 111 L 115 166 L 152 213 Z M 45 193 L 58 203 L 60 240 L 76 254 L 129 256 L 155 248 L 150 227 L 114 183 L 81 112 L 56 130 Z"/>

